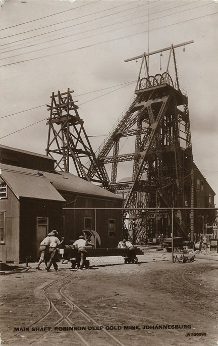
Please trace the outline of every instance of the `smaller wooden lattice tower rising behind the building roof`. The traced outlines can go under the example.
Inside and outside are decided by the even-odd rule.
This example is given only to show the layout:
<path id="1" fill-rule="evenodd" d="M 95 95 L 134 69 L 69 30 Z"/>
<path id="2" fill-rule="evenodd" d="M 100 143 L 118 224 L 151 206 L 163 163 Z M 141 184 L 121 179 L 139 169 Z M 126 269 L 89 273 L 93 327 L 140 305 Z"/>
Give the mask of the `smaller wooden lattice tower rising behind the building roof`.
<path id="1" fill-rule="evenodd" d="M 47 119 L 46 154 L 53 159 L 58 158 L 55 169 L 69 172 L 72 162 L 79 177 L 106 186 L 110 180 L 104 166 L 96 160 L 72 93 L 68 88 L 67 92 L 58 91 L 58 94 L 53 92 L 51 95 L 51 105 L 47 105 L 50 117 Z M 87 174 L 87 162 L 94 168 L 91 178 Z"/>

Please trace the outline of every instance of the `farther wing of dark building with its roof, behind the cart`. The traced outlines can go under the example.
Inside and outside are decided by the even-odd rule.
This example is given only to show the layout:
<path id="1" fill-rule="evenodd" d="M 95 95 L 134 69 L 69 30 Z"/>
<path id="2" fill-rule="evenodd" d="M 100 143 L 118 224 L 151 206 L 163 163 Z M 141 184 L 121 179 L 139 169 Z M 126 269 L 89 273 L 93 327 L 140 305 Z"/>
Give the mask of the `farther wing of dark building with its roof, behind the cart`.
<path id="1" fill-rule="evenodd" d="M 122 210 L 106 208 L 122 208 L 122 197 L 71 173 L 56 171 L 44 175 L 66 200 L 63 208 L 87 208 L 63 210 L 65 243 L 70 244 L 84 229 L 96 229 L 102 248 L 116 248 L 122 238 Z"/>

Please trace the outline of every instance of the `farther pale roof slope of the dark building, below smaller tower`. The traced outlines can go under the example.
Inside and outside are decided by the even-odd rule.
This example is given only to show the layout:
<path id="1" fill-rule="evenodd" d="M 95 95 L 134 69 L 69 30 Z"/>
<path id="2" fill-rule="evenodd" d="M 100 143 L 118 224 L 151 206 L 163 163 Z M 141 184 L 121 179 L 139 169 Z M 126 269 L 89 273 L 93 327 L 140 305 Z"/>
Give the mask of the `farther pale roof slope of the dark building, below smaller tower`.
<path id="1" fill-rule="evenodd" d="M 56 173 L 44 172 L 43 174 L 50 182 L 52 182 L 53 186 L 55 186 L 57 190 L 71 191 L 83 194 L 92 194 L 95 196 L 101 196 L 118 200 L 122 199 L 121 196 L 118 196 L 113 192 L 107 191 L 102 187 L 96 186 L 93 183 L 79 178 L 72 173 L 56 171 Z"/>

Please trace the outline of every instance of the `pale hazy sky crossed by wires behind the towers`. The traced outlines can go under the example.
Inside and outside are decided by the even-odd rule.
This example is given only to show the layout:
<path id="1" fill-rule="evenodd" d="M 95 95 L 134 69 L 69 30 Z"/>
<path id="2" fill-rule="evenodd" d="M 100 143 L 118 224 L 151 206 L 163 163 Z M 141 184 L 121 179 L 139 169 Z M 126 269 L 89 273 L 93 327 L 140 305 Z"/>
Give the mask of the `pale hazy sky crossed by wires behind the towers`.
<path id="1" fill-rule="evenodd" d="M 175 50 L 179 83 L 188 95 L 194 163 L 218 194 L 217 0 L 0 4 L 2 145 L 45 154 L 46 104 L 53 91 L 69 87 L 96 151 L 134 95 L 140 61 L 124 60 L 193 40 L 185 52 Z M 163 52 L 162 72 L 168 57 Z M 175 80 L 173 65 L 169 72 Z M 149 74 L 156 73 L 159 54 L 149 59 Z M 133 152 L 128 145 L 126 152 Z"/>

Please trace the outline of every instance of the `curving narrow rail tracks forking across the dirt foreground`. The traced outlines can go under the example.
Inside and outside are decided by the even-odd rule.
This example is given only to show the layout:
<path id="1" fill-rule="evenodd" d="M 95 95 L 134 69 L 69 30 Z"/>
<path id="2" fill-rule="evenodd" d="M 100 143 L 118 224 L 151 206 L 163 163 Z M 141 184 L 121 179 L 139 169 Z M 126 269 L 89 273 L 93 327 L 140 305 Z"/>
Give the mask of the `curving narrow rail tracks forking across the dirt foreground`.
<path id="1" fill-rule="evenodd" d="M 72 285 L 75 281 L 80 280 L 87 274 L 88 270 L 89 269 L 86 269 L 81 273 L 76 269 L 71 274 L 45 285 L 41 289 L 41 293 L 46 299 L 47 309 L 42 313 L 39 319 L 25 326 L 26 329 L 31 328 L 32 330 L 31 333 L 28 334 L 28 340 L 26 338 L 21 340 L 20 335 L 23 334 L 24 331 L 18 331 L 5 342 L 16 342 L 17 346 L 24 346 L 25 342 L 28 341 L 28 346 L 41 346 L 42 340 L 44 342 L 49 334 L 49 342 L 55 344 L 57 333 L 61 332 L 65 334 L 65 331 L 67 330 L 68 333 L 71 332 L 73 336 L 73 342 L 72 338 L 68 337 L 69 345 L 75 343 L 85 346 L 97 346 L 98 343 L 96 343 L 96 341 L 93 343 L 91 340 L 91 334 L 93 333 L 91 328 L 100 327 L 99 323 L 93 319 L 92 316 L 87 314 L 79 304 L 76 304 L 75 301 L 71 300 L 65 293 L 68 286 Z M 72 279 L 72 276 L 76 277 L 73 277 Z M 88 327 L 90 330 L 87 330 Z M 101 327 L 102 329 L 94 329 L 95 335 L 98 334 L 97 336 L 99 336 L 99 346 L 102 346 L 102 344 L 108 346 L 125 346 L 125 344 L 114 336 L 111 331 L 106 330 L 105 326 Z M 68 345 L 66 341 L 65 345 Z"/>

